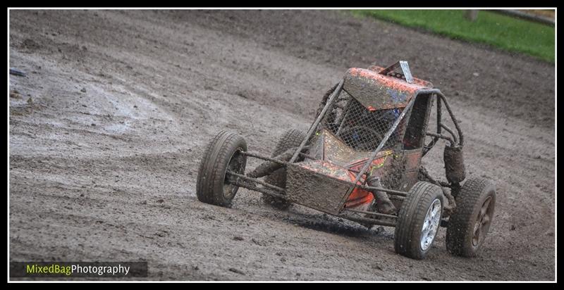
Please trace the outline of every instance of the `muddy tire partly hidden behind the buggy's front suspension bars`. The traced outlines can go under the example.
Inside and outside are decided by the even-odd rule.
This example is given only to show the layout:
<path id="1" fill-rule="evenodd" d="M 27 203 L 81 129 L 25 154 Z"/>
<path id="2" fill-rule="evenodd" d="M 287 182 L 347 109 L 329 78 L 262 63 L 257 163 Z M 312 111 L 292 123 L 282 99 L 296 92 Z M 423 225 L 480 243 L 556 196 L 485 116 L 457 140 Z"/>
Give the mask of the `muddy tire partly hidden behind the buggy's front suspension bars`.
<path id="1" fill-rule="evenodd" d="M 274 148 L 272 157 L 276 157 L 281 153 L 286 152 L 288 149 L 300 146 L 304 139 L 305 133 L 300 130 L 290 129 L 284 132 Z M 264 181 L 269 184 L 276 185 L 277 187 L 286 188 L 286 168 L 280 168 L 272 172 L 264 179 Z M 267 194 L 262 195 L 262 201 L 273 208 L 278 208 L 279 210 L 287 210 L 292 204 L 282 198 L 269 196 Z"/>

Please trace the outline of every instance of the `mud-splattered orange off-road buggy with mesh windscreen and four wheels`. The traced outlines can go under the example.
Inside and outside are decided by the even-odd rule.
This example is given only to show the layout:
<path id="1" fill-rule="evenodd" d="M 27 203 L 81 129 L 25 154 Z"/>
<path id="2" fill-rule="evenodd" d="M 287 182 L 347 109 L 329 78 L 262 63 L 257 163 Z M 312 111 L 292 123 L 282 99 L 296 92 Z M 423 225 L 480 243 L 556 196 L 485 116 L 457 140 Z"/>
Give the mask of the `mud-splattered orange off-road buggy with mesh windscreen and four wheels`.
<path id="1" fill-rule="evenodd" d="M 454 129 L 442 120 L 443 107 Z M 461 183 L 463 138 L 446 97 L 412 77 L 407 62 L 350 68 L 321 100 L 309 130 L 288 130 L 271 156 L 248 151 L 235 132 L 219 132 L 200 164 L 197 197 L 230 206 L 244 187 L 276 208 L 298 203 L 367 227 L 396 227 L 396 252 L 415 259 L 427 255 L 442 226 L 450 253 L 475 256 L 494 217 L 496 188 L 480 177 Z M 440 139 L 448 142 L 446 181 L 421 165 Z M 264 162 L 245 172 L 247 158 Z"/>

